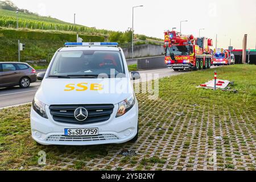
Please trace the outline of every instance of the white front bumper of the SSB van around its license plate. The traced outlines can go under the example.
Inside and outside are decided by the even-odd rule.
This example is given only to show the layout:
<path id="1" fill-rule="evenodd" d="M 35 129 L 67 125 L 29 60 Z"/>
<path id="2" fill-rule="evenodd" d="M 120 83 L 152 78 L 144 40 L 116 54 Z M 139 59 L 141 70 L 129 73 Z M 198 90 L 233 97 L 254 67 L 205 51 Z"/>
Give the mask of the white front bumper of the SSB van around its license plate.
<path id="1" fill-rule="evenodd" d="M 125 115 L 115 118 L 118 106 L 115 105 L 110 119 L 102 123 L 88 125 L 65 124 L 53 121 L 48 108 L 49 119 L 42 118 L 31 108 L 32 138 L 43 145 L 87 146 L 95 144 L 125 143 L 137 135 L 138 104 L 136 103 Z M 64 129 L 98 128 L 98 135 L 92 137 L 67 137 Z"/>

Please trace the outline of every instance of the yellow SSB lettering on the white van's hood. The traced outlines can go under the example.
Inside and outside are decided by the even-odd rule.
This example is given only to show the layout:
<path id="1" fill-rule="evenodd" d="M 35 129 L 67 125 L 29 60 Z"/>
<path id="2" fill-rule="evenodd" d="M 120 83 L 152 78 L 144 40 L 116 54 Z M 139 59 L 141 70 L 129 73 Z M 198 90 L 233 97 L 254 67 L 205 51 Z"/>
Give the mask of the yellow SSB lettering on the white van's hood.
<path id="1" fill-rule="evenodd" d="M 82 91 L 86 91 L 86 90 L 103 90 L 103 86 L 101 84 L 90 84 L 88 85 L 88 83 L 80 83 L 80 84 L 68 84 L 65 86 L 65 90 L 64 91 L 72 91 L 72 90 L 76 90 L 77 92 L 82 92 Z"/>

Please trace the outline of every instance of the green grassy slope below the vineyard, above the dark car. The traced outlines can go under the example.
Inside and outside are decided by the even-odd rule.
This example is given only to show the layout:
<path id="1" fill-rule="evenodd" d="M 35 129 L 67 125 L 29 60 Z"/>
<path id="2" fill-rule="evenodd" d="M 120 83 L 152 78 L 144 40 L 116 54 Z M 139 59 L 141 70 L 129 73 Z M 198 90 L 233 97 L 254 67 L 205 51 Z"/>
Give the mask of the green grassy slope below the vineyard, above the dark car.
<path id="1" fill-rule="evenodd" d="M 80 35 L 84 42 L 104 42 L 104 36 Z M 18 39 L 26 44 L 26 49 L 20 52 L 20 60 L 51 59 L 65 42 L 76 42 L 76 34 L 67 32 L 25 31 L 0 28 L 0 61 L 18 60 Z"/>

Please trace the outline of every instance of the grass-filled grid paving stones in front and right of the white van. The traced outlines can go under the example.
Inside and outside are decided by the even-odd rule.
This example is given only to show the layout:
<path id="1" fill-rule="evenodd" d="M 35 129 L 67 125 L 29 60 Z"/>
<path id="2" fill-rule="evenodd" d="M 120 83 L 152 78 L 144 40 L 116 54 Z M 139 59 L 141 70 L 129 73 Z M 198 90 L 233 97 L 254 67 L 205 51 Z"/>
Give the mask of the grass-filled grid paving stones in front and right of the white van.
<path id="1" fill-rule="evenodd" d="M 144 94 L 138 98 L 140 131 L 136 143 L 42 147 L 49 162 L 28 169 L 255 170 L 253 114 L 187 101 L 159 98 L 156 102 Z"/>

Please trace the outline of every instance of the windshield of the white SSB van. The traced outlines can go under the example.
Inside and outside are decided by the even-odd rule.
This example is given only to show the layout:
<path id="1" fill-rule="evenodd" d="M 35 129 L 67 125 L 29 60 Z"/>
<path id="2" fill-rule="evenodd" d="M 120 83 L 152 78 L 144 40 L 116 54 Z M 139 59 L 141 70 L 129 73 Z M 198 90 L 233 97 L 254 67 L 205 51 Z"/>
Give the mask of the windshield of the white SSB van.
<path id="1" fill-rule="evenodd" d="M 48 77 L 116 77 L 125 69 L 118 51 L 63 51 L 53 60 Z"/>

